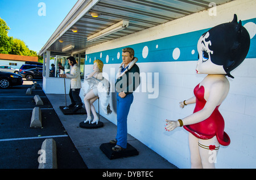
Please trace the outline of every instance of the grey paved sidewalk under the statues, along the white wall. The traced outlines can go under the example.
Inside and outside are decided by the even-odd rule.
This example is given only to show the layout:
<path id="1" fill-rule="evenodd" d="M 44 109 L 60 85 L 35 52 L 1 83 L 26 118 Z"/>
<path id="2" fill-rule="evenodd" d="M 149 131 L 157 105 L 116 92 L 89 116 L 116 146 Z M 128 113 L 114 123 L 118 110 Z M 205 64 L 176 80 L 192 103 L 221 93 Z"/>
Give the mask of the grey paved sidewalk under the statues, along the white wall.
<path id="1" fill-rule="evenodd" d="M 108 143 L 115 137 L 117 127 L 114 123 L 100 116 L 100 121 L 104 123 L 104 127 L 97 129 L 81 128 L 79 123 L 86 119 L 86 115 L 64 115 L 59 108 L 59 106 L 65 106 L 65 95 L 47 94 L 46 96 L 89 169 L 177 168 L 131 135 L 128 135 L 128 143 L 139 151 L 139 155 L 109 160 L 101 151 L 100 145 Z M 67 105 L 69 104 L 71 102 L 67 95 Z"/>

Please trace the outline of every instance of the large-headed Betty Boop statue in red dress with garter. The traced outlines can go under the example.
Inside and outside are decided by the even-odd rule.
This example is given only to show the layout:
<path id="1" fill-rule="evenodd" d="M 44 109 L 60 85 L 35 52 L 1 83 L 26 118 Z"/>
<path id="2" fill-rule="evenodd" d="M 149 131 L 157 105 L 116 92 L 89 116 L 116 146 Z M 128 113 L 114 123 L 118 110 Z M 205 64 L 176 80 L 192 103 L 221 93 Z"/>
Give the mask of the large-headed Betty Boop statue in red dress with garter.
<path id="1" fill-rule="evenodd" d="M 199 53 L 196 72 L 207 74 L 194 89 L 194 97 L 180 102 L 180 107 L 196 103 L 193 114 L 178 121 L 166 120 L 167 131 L 184 126 L 189 132 L 191 168 L 215 168 L 209 161 L 212 153 L 217 155 L 221 145 L 229 145 L 230 138 L 224 132 L 224 119 L 218 107 L 229 92 L 226 76 L 245 59 L 250 47 L 250 36 L 237 22 L 237 15 L 230 23 L 213 27 L 197 42 Z M 212 153 L 209 153 L 212 152 Z"/>

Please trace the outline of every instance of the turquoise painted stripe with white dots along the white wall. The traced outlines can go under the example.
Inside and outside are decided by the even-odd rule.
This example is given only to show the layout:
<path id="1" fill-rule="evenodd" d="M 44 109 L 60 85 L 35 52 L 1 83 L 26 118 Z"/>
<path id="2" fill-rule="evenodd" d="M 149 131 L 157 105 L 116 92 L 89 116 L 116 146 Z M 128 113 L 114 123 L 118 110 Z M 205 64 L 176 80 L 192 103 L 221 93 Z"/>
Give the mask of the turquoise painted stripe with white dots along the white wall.
<path id="1" fill-rule="evenodd" d="M 253 22 L 256 24 L 256 18 L 245 20 L 242 24 Z M 161 38 L 159 40 L 142 42 L 139 44 L 130 45 L 135 51 L 135 57 L 139 59 L 138 62 L 174 62 L 174 61 L 197 61 L 197 41 L 199 37 L 207 32 L 209 29 L 189 32 L 182 35 Z M 143 48 L 147 47 L 147 56 L 143 57 Z M 256 36 L 251 39 L 249 53 L 246 58 L 256 57 Z M 101 59 L 105 64 L 120 63 L 122 61 L 122 49 L 110 49 L 103 52 L 86 54 L 86 65 L 92 65 L 94 59 Z M 179 58 L 175 58 L 173 52 L 179 48 Z M 118 59 L 119 53 L 119 59 Z"/>

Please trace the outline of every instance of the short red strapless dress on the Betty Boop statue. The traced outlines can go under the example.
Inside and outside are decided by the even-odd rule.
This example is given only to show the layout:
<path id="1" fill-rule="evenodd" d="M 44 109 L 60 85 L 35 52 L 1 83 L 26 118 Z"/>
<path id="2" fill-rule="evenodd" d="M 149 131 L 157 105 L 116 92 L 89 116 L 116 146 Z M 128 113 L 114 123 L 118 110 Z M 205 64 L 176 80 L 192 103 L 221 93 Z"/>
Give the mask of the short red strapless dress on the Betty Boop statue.
<path id="1" fill-rule="evenodd" d="M 204 99 L 204 87 L 199 84 L 194 89 L 194 94 L 196 96 L 196 106 L 193 113 L 196 113 L 204 108 L 205 103 L 207 102 Z M 221 145 L 229 145 L 230 138 L 226 132 L 224 132 L 224 119 L 220 112 L 218 111 L 217 106 L 209 118 L 195 123 L 193 125 L 183 126 L 185 130 L 191 132 L 194 136 L 200 139 L 211 139 L 214 136 L 217 137 L 218 143 Z"/>

